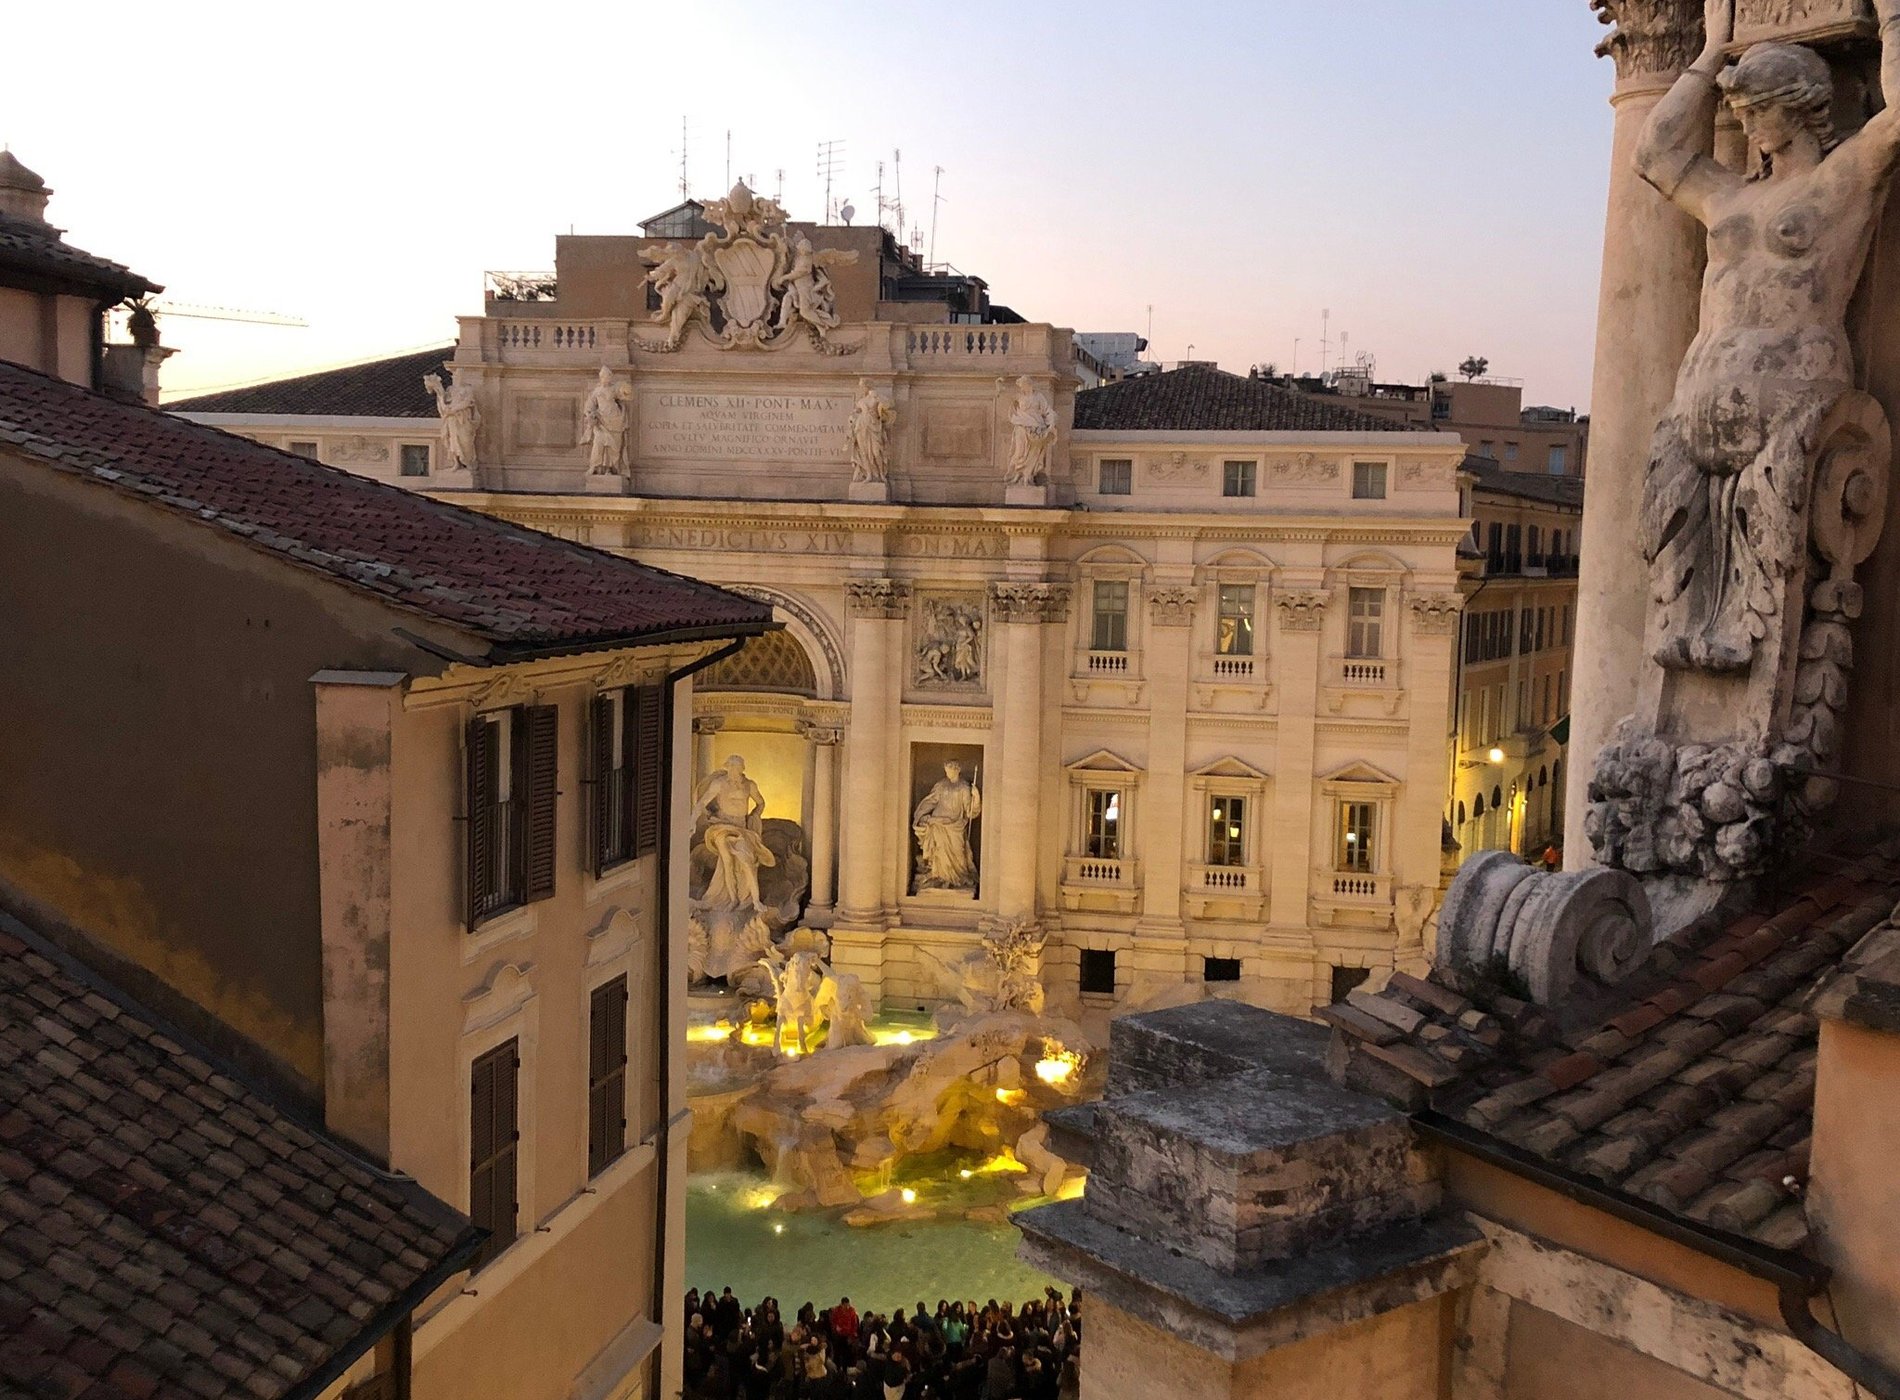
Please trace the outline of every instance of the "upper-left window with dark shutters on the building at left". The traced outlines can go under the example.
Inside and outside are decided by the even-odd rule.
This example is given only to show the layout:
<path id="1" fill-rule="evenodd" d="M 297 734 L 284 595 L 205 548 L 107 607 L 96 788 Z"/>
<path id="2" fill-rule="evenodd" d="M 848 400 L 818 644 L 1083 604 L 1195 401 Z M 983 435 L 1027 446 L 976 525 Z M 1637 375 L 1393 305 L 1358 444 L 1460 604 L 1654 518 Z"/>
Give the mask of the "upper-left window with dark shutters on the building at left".
<path id="1" fill-rule="evenodd" d="M 469 722 L 469 927 L 555 893 L 557 741 L 553 705 L 517 705 Z"/>

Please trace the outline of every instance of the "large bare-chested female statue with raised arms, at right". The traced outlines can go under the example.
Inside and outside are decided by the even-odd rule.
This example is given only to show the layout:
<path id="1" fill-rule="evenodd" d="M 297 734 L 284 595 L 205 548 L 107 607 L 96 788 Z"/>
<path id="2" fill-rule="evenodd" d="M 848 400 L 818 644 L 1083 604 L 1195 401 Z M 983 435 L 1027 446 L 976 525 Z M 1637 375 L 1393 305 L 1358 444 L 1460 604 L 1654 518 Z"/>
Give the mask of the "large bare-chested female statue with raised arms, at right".
<path id="1" fill-rule="evenodd" d="M 1756 44 L 1727 66 L 1735 0 L 1706 0 L 1702 55 L 1636 152 L 1642 177 L 1708 226 L 1700 325 L 1644 484 L 1655 659 L 1674 671 L 1748 671 L 1805 560 L 1809 464 L 1854 382 L 1847 302 L 1900 160 L 1900 0 L 1875 9 L 1887 106 L 1845 141 L 1820 55 Z M 1746 175 L 1706 154 L 1718 97 L 1748 139 Z"/>

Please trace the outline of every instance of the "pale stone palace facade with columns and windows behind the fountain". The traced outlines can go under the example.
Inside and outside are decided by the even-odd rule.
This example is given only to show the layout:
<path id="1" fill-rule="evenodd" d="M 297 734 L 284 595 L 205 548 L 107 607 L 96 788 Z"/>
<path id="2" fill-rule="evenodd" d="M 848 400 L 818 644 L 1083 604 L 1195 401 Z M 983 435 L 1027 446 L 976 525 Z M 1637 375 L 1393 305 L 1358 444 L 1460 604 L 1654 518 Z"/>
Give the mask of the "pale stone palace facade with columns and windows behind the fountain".
<path id="1" fill-rule="evenodd" d="M 728 234 L 623 275 L 800 236 L 712 215 Z M 1068 331 L 847 321 L 849 272 L 785 332 L 790 293 L 735 306 L 730 277 L 684 323 L 593 274 L 490 304 L 450 359 L 473 469 L 414 484 L 773 606 L 785 631 L 697 688 L 697 769 L 739 756 L 766 821 L 796 824 L 804 921 L 887 1003 L 952 999 L 978 935 L 1022 923 L 1072 1011 L 1184 986 L 1305 1011 L 1417 963 L 1457 439 L 1210 369 L 1077 393 Z M 308 384 L 175 410 L 289 443 L 352 401 Z M 980 796 L 973 887 L 920 870 L 948 762 Z"/>

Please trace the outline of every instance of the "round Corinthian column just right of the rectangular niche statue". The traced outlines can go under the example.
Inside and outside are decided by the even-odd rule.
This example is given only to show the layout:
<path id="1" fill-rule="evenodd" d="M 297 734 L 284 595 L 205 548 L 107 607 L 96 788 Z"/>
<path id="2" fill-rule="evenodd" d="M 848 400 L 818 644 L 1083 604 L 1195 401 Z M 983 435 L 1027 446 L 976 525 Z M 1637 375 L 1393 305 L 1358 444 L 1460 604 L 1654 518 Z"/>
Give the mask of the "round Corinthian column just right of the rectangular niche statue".
<path id="1" fill-rule="evenodd" d="M 996 914 L 1003 923 L 1034 923 L 1043 790 L 1043 623 L 1068 617 L 1068 589 L 1060 583 L 992 583 L 990 615 L 1003 633 L 998 756 L 984 794 L 984 824 L 994 830 Z"/>

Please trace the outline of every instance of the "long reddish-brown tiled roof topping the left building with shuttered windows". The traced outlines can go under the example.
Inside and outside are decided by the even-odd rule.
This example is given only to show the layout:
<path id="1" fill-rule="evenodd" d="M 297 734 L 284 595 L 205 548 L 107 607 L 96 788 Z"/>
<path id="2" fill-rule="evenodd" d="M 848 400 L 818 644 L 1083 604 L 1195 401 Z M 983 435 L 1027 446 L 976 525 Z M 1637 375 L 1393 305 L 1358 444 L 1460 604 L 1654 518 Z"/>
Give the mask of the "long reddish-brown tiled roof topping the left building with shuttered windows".
<path id="1" fill-rule="evenodd" d="M 711 583 L 0 361 L 4 448 L 428 614 L 500 657 L 669 633 L 737 636 L 771 619 L 768 606 Z"/>

